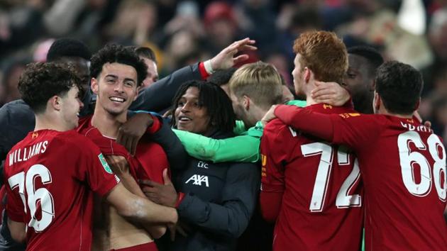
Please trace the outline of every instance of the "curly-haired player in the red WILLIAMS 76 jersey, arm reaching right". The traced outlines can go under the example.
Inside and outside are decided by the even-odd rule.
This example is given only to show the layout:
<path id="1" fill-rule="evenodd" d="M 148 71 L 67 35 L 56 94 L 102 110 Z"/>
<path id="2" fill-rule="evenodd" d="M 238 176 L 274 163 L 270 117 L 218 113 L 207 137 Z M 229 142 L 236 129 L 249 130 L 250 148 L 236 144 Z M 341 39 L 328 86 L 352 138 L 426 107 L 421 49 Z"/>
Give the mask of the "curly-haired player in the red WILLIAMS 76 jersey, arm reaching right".
<path id="1" fill-rule="evenodd" d="M 29 65 L 18 83 L 35 130 L 7 155 L 6 210 L 12 237 L 27 240 L 27 250 L 91 250 L 92 191 L 143 225 L 177 221 L 175 209 L 125 189 L 99 148 L 72 130 L 82 107 L 79 84 L 54 63 Z"/>

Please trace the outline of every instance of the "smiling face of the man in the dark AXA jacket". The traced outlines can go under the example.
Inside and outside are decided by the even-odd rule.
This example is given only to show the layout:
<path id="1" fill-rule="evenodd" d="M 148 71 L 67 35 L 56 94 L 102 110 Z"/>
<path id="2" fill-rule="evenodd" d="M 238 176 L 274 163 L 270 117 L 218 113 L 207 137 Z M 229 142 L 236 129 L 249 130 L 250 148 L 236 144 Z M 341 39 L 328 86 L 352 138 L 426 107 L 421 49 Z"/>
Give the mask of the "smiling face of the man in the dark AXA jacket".
<path id="1" fill-rule="evenodd" d="M 199 89 L 189 87 L 177 102 L 175 125 L 179 130 L 207 135 L 211 130 L 208 112 L 199 106 Z"/>

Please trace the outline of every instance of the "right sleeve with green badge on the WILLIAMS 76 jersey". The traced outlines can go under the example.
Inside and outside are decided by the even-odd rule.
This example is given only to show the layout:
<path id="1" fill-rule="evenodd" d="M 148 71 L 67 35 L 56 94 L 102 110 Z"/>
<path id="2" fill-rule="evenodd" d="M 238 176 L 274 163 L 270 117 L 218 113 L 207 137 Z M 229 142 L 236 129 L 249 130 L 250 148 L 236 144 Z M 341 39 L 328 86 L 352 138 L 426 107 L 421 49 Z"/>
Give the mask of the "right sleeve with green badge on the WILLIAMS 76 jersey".
<path id="1" fill-rule="evenodd" d="M 112 172 L 99 147 L 91 140 L 79 135 L 76 141 L 72 146 L 77 151 L 76 178 L 87 182 L 92 191 L 104 196 L 118 184 L 118 177 Z"/>

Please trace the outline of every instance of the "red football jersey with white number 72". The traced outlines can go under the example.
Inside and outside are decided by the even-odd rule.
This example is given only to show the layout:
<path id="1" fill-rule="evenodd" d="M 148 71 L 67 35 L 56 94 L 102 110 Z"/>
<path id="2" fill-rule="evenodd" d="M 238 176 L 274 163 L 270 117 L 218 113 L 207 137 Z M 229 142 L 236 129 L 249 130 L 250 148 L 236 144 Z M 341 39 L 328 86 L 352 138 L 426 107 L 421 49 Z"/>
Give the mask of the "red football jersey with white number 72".
<path id="1" fill-rule="evenodd" d="M 355 113 L 352 108 L 326 104 L 305 109 Z M 274 120 L 264 129 L 261 154 L 261 193 L 283 194 L 273 250 L 359 250 L 363 186 L 358 162 L 347 147 Z"/>

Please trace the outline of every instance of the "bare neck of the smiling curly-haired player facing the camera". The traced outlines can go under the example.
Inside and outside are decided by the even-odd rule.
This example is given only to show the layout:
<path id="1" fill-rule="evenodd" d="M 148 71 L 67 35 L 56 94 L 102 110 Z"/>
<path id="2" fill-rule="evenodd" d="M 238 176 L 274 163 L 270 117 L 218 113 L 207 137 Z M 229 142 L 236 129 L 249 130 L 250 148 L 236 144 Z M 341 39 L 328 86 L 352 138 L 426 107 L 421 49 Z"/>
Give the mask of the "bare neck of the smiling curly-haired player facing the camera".
<path id="1" fill-rule="evenodd" d="M 109 138 L 118 137 L 118 129 L 126 122 L 126 113 L 113 116 L 106 111 L 95 111 L 92 116 L 92 125 L 98 128 L 99 132 Z"/>

